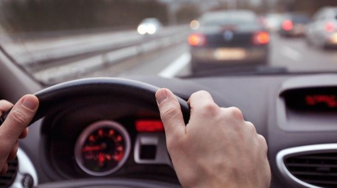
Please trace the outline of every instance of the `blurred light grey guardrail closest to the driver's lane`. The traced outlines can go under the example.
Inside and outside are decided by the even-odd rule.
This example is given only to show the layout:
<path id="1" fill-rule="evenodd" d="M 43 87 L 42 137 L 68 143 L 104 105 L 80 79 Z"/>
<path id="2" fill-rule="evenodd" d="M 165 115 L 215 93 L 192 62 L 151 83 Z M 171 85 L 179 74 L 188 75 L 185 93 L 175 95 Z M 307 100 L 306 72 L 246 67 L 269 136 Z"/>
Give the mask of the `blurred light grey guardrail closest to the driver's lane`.
<path id="1" fill-rule="evenodd" d="M 171 28 L 162 35 L 143 38 L 139 41 L 134 41 L 133 44 L 128 43 L 124 47 L 116 47 L 83 59 L 63 63 L 63 65 L 44 68 L 36 71 L 33 75 L 44 83 L 58 83 L 69 77 L 84 75 L 85 73 L 111 66 L 129 57 L 184 42 L 189 33 L 188 27 Z"/>

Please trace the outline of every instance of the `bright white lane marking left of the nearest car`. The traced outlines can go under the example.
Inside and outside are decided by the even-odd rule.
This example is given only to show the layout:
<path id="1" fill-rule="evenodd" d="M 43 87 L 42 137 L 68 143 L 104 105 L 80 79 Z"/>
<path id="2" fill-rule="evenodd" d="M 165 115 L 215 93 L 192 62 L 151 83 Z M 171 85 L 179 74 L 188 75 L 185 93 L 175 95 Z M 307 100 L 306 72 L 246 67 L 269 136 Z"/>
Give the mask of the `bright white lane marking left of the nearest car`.
<path id="1" fill-rule="evenodd" d="M 190 53 L 186 52 L 174 60 L 169 66 L 162 70 L 158 75 L 162 77 L 171 78 L 177 75 L 183 68 L 185 68 L 191 60 Z"/>

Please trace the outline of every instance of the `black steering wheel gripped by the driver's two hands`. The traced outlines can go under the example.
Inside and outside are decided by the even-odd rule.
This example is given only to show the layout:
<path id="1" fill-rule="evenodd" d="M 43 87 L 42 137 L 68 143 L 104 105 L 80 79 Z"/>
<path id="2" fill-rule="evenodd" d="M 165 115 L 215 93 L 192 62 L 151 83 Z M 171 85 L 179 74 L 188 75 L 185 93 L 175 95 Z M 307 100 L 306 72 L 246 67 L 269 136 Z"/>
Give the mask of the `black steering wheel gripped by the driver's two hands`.
<path id="1" fill-rule="evenodd" d="M 158 87 L 143 82 L 121 78 L 88 78 L 61 83 L 46 88 L 35 94 L 40 101 L 40 105 L 29 125 L 44 116 L 77 106 L 79 104 L 85 104 L 94 100 L 104 101 L 105 99 L 115 97 L 136 101 L 137 104 L 141 104 L 148 110 L 159 113 L 155 99 L 155 93 L 158 89 Z M 176 97 L 179 101 L 184 121 L 187 124 L 190 119 L 189 105 L 184 99 L 178 96 Z M 6 119 L 9 112 L 10 110 L 0 117 L 0 125 Z M 113 183 L 113 181 L 110 183 Z M 137 184 L 135 184 L 133 180 L 132 184 L 130 181 L 129 186 L 126 184 L 123 186 L 125 188 L 149 188 L 149 184 L 140 183 L 138 186 L 136 185 Z M 116 185 L 111 185 L 111 187 L 113 186 Z M 162 186 L 163 185 L 158 184 L 157 187 Z M 54 183 L 51 187 L 72 188 L 79 186 L 75 186 L 74 184 L 66 186 L 64 183 L 58 186 Z M 152 187 L 153 182 L 151 188 Z"/>

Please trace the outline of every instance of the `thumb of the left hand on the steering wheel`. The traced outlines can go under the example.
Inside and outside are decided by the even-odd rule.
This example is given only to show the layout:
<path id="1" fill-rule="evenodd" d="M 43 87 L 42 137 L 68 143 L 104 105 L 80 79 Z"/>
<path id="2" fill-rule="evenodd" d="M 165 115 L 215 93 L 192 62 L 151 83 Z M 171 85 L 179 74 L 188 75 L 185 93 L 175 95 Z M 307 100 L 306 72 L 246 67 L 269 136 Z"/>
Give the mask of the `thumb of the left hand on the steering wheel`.
<path id="1" fill-rule="evenodd" d="M 14 146 L 21 133 L 26 129 L 34 117 L 39 106 L 39 100 L 34 95 L 23 96 L 8 114 L 6 120 L 0 127 L 0 143 L 8 146 Z M 9 153 L 9 149 L 3 151 Z"/>

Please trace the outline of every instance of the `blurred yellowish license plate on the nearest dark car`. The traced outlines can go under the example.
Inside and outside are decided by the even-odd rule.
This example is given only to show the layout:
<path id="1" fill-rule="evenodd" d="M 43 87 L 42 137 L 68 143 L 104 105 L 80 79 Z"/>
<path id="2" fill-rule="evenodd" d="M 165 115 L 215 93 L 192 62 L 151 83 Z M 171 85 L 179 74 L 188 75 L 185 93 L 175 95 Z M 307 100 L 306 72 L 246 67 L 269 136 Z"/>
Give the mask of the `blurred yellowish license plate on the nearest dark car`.
<path id="1" fill-rule="evenodd" d="M 246 50 L 242 48 L 219 48 L 215 50 L 217 60 L 240 60 L 246 57 Z"/>

